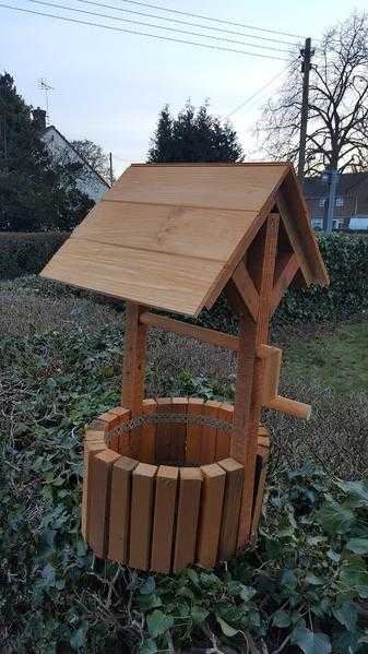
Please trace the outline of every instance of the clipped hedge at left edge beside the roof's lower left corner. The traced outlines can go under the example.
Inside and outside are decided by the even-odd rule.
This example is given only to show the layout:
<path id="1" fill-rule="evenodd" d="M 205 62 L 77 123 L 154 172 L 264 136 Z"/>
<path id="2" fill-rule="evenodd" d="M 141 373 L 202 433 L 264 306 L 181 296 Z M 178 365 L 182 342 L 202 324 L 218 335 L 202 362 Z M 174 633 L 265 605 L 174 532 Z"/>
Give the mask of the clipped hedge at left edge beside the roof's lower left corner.
<path id="1" fill-rule="evenodd" d="M 67 231 L 0 233 L 0 280 L 39 273 L 68 236 Z"/>

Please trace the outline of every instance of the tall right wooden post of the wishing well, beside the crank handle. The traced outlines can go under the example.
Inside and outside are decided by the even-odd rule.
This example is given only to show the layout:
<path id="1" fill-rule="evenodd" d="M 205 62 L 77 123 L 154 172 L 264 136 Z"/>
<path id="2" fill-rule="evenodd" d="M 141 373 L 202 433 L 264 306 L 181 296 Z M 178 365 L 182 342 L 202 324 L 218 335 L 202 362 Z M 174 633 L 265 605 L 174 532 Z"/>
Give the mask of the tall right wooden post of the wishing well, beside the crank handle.
<path id="1" fill-rule="evenodd" d="M 245 463 L 245 484 L 238 532 L 239 549 L 248 542 L 251 532 L 257 438 L 262 409 L 264 369 L 264 360 L 256 357 L 256 350 L 259 345 L 266 342 L 269 335 L 278 222 L 280 216 L 277 214 L 270 214 L 266 222 L 263 260 L 260 271 L 260 302 L 257 325 L 251 323 L 251 319 L 247 317 L 244 319 L 244 324 L 240 324 L 239 356 L 242 355 L 242 361 L 239 360 L 240 371 L 238 374 L 240 379 L 237 382 L 234 409 L 234 427 L 236 429 L 234 456 Z M 253 365 L 251 365 L 251 361 Z M 242 393 L 245 394 L 241 397 Z M 239 459 L 241 437 L 245 439 L 242 441 L 244 454 Z"/>

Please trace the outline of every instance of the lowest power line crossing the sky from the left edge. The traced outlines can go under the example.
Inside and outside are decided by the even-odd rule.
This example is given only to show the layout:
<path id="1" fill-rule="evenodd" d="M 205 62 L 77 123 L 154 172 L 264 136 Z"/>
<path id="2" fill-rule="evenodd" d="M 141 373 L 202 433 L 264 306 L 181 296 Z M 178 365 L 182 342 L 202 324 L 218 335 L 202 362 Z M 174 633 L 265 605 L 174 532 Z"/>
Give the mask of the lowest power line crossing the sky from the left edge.
<path id="1" fill-rule="evenodd" d="M 105 25 L 104 23 L 91 23 L 88 21 L 81 21 L 79 19 L 71 19 L 67 16 L 60 16 L 51 13 L 47 13 L 44 11 L 33 11 L 31 9 L 23 9 L 21 7 L 12 7 L 11 4 L 0 3 L 0 7 L 3 9 L 10 9 L 11 11 L 20 11 L 22 13 L 28 13 L 36 16 L 46 16 L 48 19 L 57 19 L 58 21 L 63 21 L 64 23 L 74 23 L 79 25 L 87 25 L 88 27 L 100 27 L 103 29 L 108 29 L 109 32 L 122 32 L 124 34 L 135 34 L 138 36 L 149 36 L 150 38 L 156 38 L 158 40 L 167 40 L 170 43 L 179 43 L 186 44 L 189 46 L 197 46 L 199 48 L 206 48 L 207 50 L 221 50 L 223 52 L 236 52 L 237 55 L 249 55 L 251 57 L 261 57 L 262 59 L 272 59 L 273 61 L 286 61 L 286 59 L 282 59 L 281 57 L 273 57 L 271 55 L 263 55 L 261 52 L 250 52 L 248 50 L 238 50 L 235 48 L 224 48 L 223 46 L 210 46 L 209 44 L 200 44 L 193 40 L 185 40 L 182 38 L 171 38 L 169 36 L 161 36 L 158 34 L 150 34 L 147 32 L 139 32 L 138 29 L 127 29 L 124 27 L 112 27 L 111 25 Z"/>

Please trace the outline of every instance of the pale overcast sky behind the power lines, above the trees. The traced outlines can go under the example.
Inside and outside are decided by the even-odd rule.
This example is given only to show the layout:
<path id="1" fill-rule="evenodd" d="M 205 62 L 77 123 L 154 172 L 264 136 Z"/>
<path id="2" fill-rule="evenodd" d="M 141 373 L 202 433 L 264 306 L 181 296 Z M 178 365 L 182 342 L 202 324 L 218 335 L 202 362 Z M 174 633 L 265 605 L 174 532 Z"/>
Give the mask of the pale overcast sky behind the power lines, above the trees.
<path id="1" fill-rule="evenodd" d="M 251 40 L 261 46 L 287 47 L 280 43 L 210 32 L 106 8 L 98 9 L 80 0 L 45 1 L 177 29 L 212 34 L 240 41 Z M 239 31 L 259 37 L 296 40 L 246 28 L 241 31 L 236 26 L 199 21 L 179 14 L 162 13 L 122 0 L 94 1 L 130 11 L 155 13 L 157 16 L 168 19 L 216 25 L 224 29 Z M 312 38 L 319 38 L 325 27 L 337 20 L 346 19 L 354 9 L 363 10 L 367 5 L 366 0 L 355 2 L 349 0 L 324 0 L 324 2 L 321 0 L 302 2 L 227 0 L 226 3 L 218 0 L 169 0 L 167 2 L 142 0 L 144 1 L 166 9 L 200 13 Z M 202 40 L 209 45 L 217 43 L 158 28 L 67 12 L 43 3 L 29 2 L 29 0 L 0 0 L 1 3 L 82 21 L 99 22 L 120 28 L 151 32 L 171 38 Z M 1 7 L 0 34 L 0 70 L 8 71 L 14 76 L 16 86 L 25 100 L 34 106 L 45 106 L 45 95 L 38 87 L 38 80 L 46 78 L 55 88 L 49 97 L 49 122 L 68 139 L 91 139 L 106 151 L 111 151 L 117 173 L 120 173 L 130 162 L 145 160 L 157 115 L 165 103 L 170 105 L 173 111 L 177 111 L 185 105 L 187 98 L 190 98 L 195 106 L 209 98 L 211 111 L 219 117 L 226 117 L 281 73 L 286 66 L 278 59 L 261 59 L 244 53 L 159 41 L 144 36 L 19 13 Z M 271 57 L 287 56 L 280 51 L 256 49 L 226 41 L 218 41 L 217 45 L 259 51 Z M 282 75 L 254 100 L 232 116 L 248 158 L 257 158 L 258 154 L 251 136 L 254 121 L 262 105 L 275 92 L 281 80 Z"/>

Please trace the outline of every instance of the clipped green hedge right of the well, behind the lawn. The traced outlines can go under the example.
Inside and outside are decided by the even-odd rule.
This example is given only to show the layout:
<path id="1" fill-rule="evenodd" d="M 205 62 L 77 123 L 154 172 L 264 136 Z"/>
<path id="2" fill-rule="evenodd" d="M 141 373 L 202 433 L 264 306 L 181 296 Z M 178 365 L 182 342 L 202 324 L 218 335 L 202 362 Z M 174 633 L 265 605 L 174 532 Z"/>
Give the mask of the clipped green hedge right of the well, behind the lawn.
<path id="1" fill-rule="evenodd" d="M 319 322 L 361 314 L 368 310 L 368 236 L 318 235 L 331 284 L 325 288 L 289 289 L 273 318 L 273 326 L 290 322 Z M 225 301 L 219 299 L 205 311 L 199 324 L 222 331 L 237 331 Z"/>

